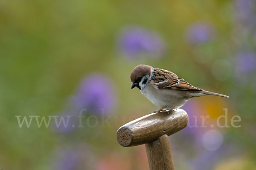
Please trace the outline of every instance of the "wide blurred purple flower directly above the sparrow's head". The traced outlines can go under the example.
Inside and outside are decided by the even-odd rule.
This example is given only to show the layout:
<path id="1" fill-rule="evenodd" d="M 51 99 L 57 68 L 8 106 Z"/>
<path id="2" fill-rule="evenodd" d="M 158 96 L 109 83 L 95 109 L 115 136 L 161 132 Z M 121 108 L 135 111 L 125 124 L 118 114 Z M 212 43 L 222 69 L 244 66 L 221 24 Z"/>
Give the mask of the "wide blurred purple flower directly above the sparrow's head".
<path id="1" fill-rule="evenodd" d="M 137 26 L 123 29 L 117 43 L 119 50 L 132 59 L 144 54 L 161 57 L 165 51 L 165 43 L 155 32 Z"/>

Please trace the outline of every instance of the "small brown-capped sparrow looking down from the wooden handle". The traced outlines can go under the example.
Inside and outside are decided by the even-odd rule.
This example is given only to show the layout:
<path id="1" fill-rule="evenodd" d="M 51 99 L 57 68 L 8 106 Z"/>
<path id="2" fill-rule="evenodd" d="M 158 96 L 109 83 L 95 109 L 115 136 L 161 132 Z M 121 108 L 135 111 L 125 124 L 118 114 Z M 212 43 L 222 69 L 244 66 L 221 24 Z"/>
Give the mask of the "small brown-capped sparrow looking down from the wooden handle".
<path id="1" fill-rule="evenodd" d="M 134 87 L 139 88 L 149 101 L 160 107 L 154 112 L 175 110 L 182 107 L 190 98 L 198 96 L 216 95 L 229 98 L 227 95 L 195 87 L 168 70 L 142 64 L 131 72 L 131 89 Z"/>

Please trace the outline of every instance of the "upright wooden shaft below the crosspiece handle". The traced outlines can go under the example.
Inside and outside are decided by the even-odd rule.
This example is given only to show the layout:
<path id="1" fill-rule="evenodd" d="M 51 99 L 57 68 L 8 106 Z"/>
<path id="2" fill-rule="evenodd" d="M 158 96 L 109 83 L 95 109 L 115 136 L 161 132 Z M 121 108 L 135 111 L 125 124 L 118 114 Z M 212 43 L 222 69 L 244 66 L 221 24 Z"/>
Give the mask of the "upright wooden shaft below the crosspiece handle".
<path id="1" fill-rule="evenodd" d="M 169 138 L 162 135 L 157 140 L 145 144 L 150 170 L 174 170 Z"/>

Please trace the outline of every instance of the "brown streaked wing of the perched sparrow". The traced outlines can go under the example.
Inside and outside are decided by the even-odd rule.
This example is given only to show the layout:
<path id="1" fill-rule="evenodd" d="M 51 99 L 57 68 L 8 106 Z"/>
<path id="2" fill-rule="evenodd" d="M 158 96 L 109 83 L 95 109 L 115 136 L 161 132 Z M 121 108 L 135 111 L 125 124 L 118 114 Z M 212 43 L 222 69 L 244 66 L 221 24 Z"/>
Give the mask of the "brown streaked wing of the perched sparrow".
<path id="1" fill-rule="evenodd" d="M 192 86 L 183 78 L 179 78 L 173 72 L 164 69 L 154 69 L 154 84 L 158 89 L 176 89 L 176 90 L 202 90 Z"/>

